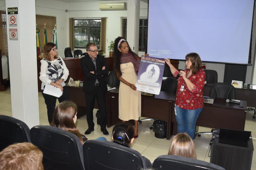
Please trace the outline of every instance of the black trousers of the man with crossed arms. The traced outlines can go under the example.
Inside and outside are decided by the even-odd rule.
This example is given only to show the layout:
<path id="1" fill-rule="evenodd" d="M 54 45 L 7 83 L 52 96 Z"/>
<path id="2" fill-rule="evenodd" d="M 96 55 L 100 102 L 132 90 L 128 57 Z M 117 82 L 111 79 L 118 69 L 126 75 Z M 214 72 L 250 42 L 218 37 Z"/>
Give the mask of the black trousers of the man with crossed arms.
<path id="1" fill-rule="evenodd" d="M 89 128 L 94 128 L 93 123 L 93 109 L 95 103 L 95 97 L 98 102 L 100 110 L 100 127 L 106 128 L 107 125 L 107 111 L 106 111 L 106 102 L 105 102 L 105 92 L 103 92 L 99 86 L 96 86 L 93 92 L 85 92 L 85 101 L 87 107 L 86 119 Z"/>

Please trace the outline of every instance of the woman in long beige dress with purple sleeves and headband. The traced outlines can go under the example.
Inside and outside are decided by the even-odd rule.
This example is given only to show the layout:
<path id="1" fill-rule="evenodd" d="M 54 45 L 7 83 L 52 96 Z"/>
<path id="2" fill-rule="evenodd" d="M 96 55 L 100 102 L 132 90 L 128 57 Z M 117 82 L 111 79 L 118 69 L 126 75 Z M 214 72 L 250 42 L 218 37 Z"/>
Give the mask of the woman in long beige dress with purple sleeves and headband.
<path id="1" fill-rule="evenodd" d="M 120 80 L 119 119 L 123 122 L 134 120 L 134 138 L 138 138 L 138 120 L 141 116 L 140 91 L 135 87 L 140 67 L 140 58 L 132 52 L 123 37 L 117 37 L 114 44 L 115 71 Z"/>

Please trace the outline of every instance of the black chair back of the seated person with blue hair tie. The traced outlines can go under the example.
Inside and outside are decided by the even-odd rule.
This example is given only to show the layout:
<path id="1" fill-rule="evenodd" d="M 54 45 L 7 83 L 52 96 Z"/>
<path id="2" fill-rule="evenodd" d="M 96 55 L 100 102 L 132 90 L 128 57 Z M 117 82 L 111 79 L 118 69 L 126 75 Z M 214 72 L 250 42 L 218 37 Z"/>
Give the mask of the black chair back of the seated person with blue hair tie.
<path id="1" fill-rule="evenodd" d="M 146 169 L 138 151 L 114 142 L 88 140 L 83 145 L 86 170 L 137 170 Z"/>

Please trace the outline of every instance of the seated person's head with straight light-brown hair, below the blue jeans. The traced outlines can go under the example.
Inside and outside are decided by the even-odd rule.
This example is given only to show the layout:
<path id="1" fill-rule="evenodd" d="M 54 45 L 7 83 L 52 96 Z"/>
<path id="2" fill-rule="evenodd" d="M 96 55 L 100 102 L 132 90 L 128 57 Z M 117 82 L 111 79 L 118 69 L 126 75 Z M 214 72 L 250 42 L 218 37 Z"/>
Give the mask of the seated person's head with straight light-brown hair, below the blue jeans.
<path id="1" fill-rule="evenodd" d="M 196 159 L 196 150 L 193 140 L 187 133 L 177 134 L 172 140 L 168 155 L 178 155 Z"/>

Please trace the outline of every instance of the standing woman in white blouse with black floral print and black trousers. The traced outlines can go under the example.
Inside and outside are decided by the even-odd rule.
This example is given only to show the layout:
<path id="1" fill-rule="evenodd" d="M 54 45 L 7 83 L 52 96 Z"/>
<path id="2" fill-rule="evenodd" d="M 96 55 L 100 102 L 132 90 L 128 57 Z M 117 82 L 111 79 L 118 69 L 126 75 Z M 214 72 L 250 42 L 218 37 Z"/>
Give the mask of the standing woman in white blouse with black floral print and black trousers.
<path id="1" fill-rule="evenodd" d="M 65 87 L 65 81 L 68 78 L 68 68 L 60 56 L 58 56 L 58 47 L 54 43 L 46 43 L 44 45 L 44 57 L 41 60 L 41 72 L 39 79 L 42 81 L 42 94 L 47 107 L 47 115 L 49 124 L 52 123 L 53 112 L 58 97 L 44 94 L 45 84 L 50 84 L 63 91 L 62 96 L 58 98 L 59 103 L 68 100 L 68 91 Z"/>

